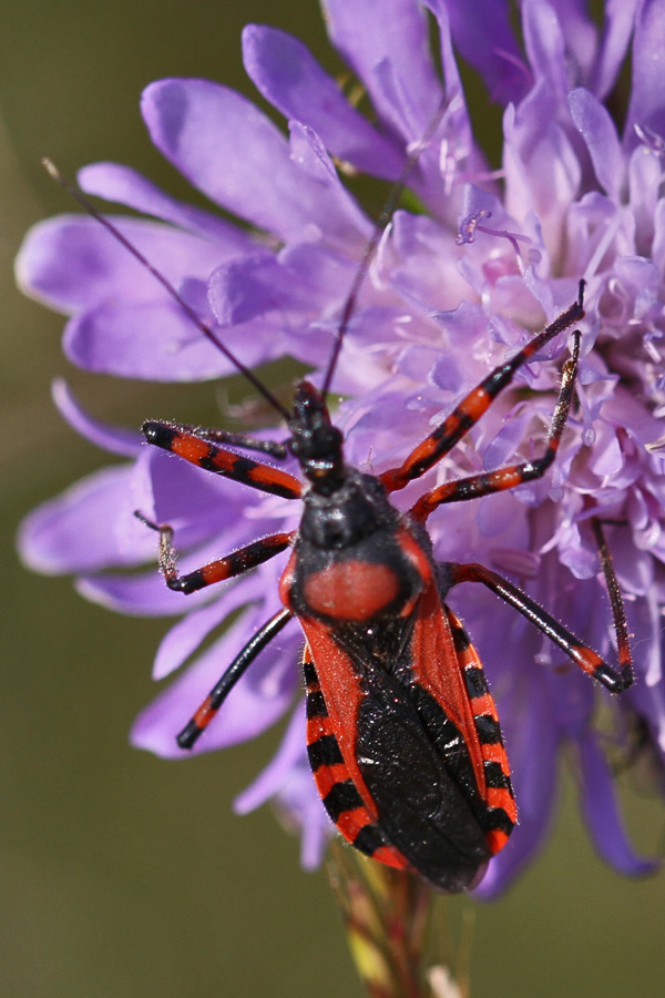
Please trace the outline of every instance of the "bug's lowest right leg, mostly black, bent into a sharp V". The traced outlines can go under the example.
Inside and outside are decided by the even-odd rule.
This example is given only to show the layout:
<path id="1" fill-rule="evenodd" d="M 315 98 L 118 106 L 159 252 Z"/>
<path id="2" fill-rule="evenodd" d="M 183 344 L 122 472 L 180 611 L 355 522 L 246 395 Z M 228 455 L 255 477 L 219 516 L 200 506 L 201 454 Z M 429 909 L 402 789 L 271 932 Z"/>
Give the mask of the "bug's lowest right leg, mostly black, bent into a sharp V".
<path id="1" fill-rule="evenodd" d="M 608 556 L 610 552 L 607 551 L 606 553 Z M 610 572 L 615 587 L 614 594 L 611 599 L 620 646 L 621 668 L 618 671 L 611 665 L 607 665 L 596 652 L 583 644 L 579 638 L 575 638 L 574 634 L 564 628 L 563 624 L 559 623 L 559 621 L 548 613 L 546 610 L 543 610 L 542 607 L 528 597 L 525 592 L 522 592 L 521 589 L 513 585 L 508 579 L 498 576 L 497 572 L 491 571 L 491 569 L 488 569 L 482 564 L 458 564 L 457 562 L 446 562 L 443 569 L 451 587 L 458 585 L 460 582 L 482 582 L 483 585 L 491 589 L 492 592 L 500 597 L 500 599 L 510 603 L 510 605 L 525 617 L 526 620 L 530 620 L 539 631 L 542 631 L 550 641 L 553 641 L 564 654 L 572 659 L 583 672 L 586 672 L 589 675 L 601 682 L 612 693 L 622 693 L 624 690 L 627 690 L 633 682 L 633 666 L 628 646 L 625 613 L 623 601 L 618 592 L 618 585 L 616 584 L 616 579 L 614 578 L 614 572 L 612 570 L 611 560 L 607 559 L 603 561 L 603 552 L 601 552 L 601 561 L 603 562 L 605 578 L 607 578 L 607 572 Z M 617 619 L 620 620 L 618 627 L 616 627 Z"/>

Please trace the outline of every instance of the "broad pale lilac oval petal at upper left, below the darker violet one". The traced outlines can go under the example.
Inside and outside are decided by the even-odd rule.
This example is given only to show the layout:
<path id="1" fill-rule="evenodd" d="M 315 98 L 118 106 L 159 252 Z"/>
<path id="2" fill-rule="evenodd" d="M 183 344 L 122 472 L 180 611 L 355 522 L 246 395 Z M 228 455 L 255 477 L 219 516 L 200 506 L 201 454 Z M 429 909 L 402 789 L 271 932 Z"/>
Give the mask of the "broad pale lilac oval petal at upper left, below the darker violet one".
<path id="1" fill-rule="evenodd" d="M 216 204 L 286 242 L 358 242 L 335 198 L 244 96 L 205 80 L 163 80 L 144 91 L 142 110 L 157 149 Z"/>

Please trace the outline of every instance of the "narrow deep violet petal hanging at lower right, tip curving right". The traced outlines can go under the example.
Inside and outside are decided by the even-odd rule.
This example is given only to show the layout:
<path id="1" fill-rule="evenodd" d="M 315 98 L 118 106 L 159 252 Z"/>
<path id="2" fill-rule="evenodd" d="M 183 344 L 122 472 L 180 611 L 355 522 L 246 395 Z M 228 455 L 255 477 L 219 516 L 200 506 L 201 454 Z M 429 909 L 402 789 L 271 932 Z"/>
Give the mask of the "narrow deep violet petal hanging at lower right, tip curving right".
<path id="1" fill-rule="evenodd" d="M 653 859 L 637 856 L 618 812 L 614 780 L 596 737 L 587 733 L 577 742 L 582 780 L 582 811 L 603 859 L 627 876 L 642 876 L 658 868 Z"/>

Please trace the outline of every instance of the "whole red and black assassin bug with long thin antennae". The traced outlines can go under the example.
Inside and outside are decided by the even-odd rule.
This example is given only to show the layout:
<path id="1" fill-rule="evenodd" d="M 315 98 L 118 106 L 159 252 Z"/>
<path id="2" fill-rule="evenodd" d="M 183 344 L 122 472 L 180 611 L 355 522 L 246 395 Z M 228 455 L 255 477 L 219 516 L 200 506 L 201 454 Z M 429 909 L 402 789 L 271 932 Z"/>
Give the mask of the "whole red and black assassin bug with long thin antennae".
<path id="1" fill-rule="evenodd" d="M 416 155 L 407 163 L 397 193 Z M 326 396 L 360 282 L 392 206 L 368 244 L 346 301 L 323 388 L 301 381 L 291 413 L 231 355 L 175 288 L 155 274 L 203 335 L 231 357 L 280 413 L 288 438 L 272 444 L 149 421 L 143 426 L 147 442 L 260 491 L 301 499 L 304 510 L 297 530 L 257 540 L 184 576 L 177 571 L 172 528 L 153 523 L 141 512 L 136 516 L 158 532 L 162 572 L 167 585 L 183 593 L 237 577 L 290 548 L 279 584 L 284 608 L 226 669 L 178 735 L 180 746 L 194 745 L 245 670 L 291 618 L 297 618 L 306 641 L 307 751 L 332 822 L 362 853 L 389 866 L 416 870 L 439 889 L 459 892 L 478 884 L 491 857 L 505 845 L 516 822 L 516 806 L 494 702 L 478 653 L 446 603 L 449 590 L 461 582 L 488 587 L 612 692 L 627 689 L 633 673 L 621 594 L 597 518 L 592 517 L 591 522 L 611 597 L 618 670 L 492 570 L 480 564 L 437 563 L 426 529 L 428 517 L 440 506 L 515 488 L 545 473 L 556 457 L 574 394 L 579 332 L 573 335 L 572 358 L 563 367 L 540 457 L 436 487 L 406 515 L 389 499 L 448 455 L 515 373 L 583 318 L 583 282 L 577 299 L 459 401 L 401 466 L 374 476 L 345 464 L 342 435 L 330 420 Z M 150 267 L 108 220 L 92 211 Z M 291 455 L 306 482 L 229 447 L 258 450 L 275 459 Z"/>

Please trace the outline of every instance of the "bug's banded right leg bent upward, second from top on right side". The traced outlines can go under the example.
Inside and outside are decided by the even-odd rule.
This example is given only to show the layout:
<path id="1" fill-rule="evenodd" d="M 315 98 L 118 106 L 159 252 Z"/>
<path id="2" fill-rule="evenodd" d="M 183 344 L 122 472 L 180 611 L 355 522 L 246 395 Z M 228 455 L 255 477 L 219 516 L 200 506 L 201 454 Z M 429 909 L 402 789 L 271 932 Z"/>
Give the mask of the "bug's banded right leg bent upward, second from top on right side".
<path id="1" fill-rule="evenodd" d="M 472 475 L 470 478 L 458 478 L 456 481 L 448 481 L 446 485 L 439 486 L 421 496 L 411 509 L 411 516 L 422 523 L 432 510 L 444 502 L 466 502 L 468 499 L 479 499 L 481 496 L 491 496 L 492 492 L 503 492 L 505 489 L 514 489 L 525 481 L 542 478 L 559 450 L 573 398 L 579 357 L 580 333 L 576 330 L 574 334 L 573 356 L 570 360 L 566 360 L 563 367 L 559 400 L 552 416 L 548 445 L 542 457 L 532 461 L 523 461 L 519 465 L 509 465 L 507 468 L 498 468 L 497 471 L 488 471 L 482 475 Z"/>

